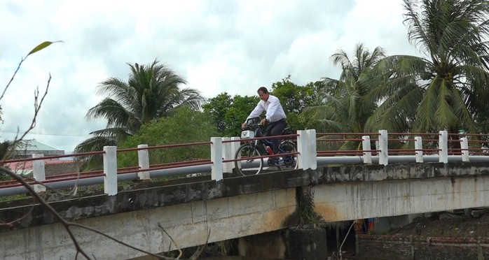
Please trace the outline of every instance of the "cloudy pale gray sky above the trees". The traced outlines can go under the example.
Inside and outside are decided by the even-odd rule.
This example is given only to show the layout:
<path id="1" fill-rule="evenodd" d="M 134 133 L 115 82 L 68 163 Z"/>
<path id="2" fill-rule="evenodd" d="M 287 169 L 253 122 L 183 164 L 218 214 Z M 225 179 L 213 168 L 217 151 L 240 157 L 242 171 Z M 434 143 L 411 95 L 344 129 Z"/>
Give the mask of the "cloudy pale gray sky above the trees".
<path id="1" fill-rule="evenodd" d="M 338 78 L 329 57 L 356 43 L 387 55 L 419 55 L 408 43 L 401 0 L 17 1 L 0 3 L 0 78 L 43 41 L 64 41 L 30 56 L 1 100 L 2 139 L 27 129 L 34 89 L 50 89 L 27 138 L 71 153 L 102 129 L 85 114 L 106 78 L 128 79 L 126 63 L 158 59 L 207 97 L 254 95 L 291 75 L 298 85 Z"/>

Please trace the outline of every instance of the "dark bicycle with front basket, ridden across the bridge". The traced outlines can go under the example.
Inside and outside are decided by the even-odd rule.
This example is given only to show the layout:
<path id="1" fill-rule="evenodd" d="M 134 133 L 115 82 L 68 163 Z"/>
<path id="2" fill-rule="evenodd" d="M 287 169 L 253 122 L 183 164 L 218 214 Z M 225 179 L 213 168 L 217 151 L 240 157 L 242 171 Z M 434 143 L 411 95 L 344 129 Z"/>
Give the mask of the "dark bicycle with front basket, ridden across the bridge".
<path id="1" fill-rule="evenodd" d="M 286 127 L 282 131 L 282 135 L 291 134 L 290 127 Z M 282 171 L 282 167 L 285 168 L 297 168 L 296 154 L 280 156 L 280 154 L 297 152 L 297 145 L 292 140 L 282 140 L 279 145 L 278 154 L 273 154 L 271 150 L 272 141 L 267 139 L 261 140 L 246 140 L 249 138 L 263 137 L 263 133 L 260 128 L 260 117 L 254 117 L 247 120 L 245 129 L 241 132 L 241 139 L 244 140 L 239 148 L 237 148 L 235 159 L 242 159 L 248 157 L 247 160 L 235 161 L 235 168 L 242 175 L 256 175 L 263 170 L 263 155 L 273 155 L 276 159 L 268 158 L 267 164 L 272 167 L 275 166 L 279 171 Z"/>

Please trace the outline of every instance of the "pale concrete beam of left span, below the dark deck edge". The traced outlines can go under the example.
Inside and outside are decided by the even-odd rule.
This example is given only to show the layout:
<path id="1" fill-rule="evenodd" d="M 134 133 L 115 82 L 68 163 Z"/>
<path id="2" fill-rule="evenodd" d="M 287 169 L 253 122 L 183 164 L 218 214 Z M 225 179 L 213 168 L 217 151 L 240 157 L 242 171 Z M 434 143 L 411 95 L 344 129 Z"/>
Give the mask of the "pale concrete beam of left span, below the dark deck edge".
<path id="1" fill-rule="evenodd" d="M 157 253 L 179 247 L 283 229 L 294 212 L 295 189 L 193 201 L 117 215 L 77 220 L 125 243 Z M 74 227 L 81 247 L 96 259 L 128 259 L 142 254 L 91 231 Z M 0 259 L 74 259 L 74 246 L 61 224 L 0 233 Z"/>

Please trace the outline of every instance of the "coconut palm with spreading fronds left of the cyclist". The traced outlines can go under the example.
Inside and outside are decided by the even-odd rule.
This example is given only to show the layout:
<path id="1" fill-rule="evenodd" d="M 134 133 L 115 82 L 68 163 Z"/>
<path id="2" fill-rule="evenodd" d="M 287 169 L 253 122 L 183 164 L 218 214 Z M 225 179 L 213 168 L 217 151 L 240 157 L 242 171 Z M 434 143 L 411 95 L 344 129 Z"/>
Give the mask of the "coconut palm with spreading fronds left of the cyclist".
<path id="1" fill-rule="evenodd" d="M 107 97 L 90 108 L 87 120 L 104 118 L 106 128 L 93 131 L 92 138 L 75 148 L 75 153 L 102 150 L 105 145 L 116 145 L 132 136 L 143 124 L 159 117 L 167 117 L 180 106 L 200 109 L 203 97 L 195 89 L 180 89 L 186 81 L 170 68 L 154 61 L 146 66 L 128 64 L 131 73 L 128 82 L 109 78 L 98 86 L 97 94 Z M 97 158 L 97 160 L 93 160 Z M 92 168 L 99 166 L 99 156 L 84 157 Z"/>

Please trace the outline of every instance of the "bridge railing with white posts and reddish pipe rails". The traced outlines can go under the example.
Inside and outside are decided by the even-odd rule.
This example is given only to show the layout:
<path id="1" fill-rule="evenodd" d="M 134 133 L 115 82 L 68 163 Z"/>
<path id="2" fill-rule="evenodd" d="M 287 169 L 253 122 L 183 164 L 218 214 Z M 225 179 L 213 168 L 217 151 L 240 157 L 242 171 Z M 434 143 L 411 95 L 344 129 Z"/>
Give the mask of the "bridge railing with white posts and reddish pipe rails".
<path id="1" fill-rule="evenodd" d="M 283 138 L 277 136 L 276 138 Z M 272 137 L 269 137 L 272 138 Z M 443 162 L 449 161 L 489 161 L 488 136 L 482 134 L 448 134 L 439 133 L 316 133 L 312 130 L 299 130 L 287 138 L 297 143 L 297 164 L 303 170 L 315 169 L 317 165 L 331 164 L 383 164 L 399 162 Z M 252 138 L 255 140 L 263 138 Z M 162 175 L 187 175 L 190 173 L 211 173 L 212 180 L 222 180 L 223 173 L 233 172 L 235 152 L 241 145 L 239 137 L 213 137 L 209 142 L 186 143 L 175 145 L 138 145 L 134 148 L 117 149 L 115 146 L 104 147 L 103 151 L 82 154 L 65 154 L 43 157 L 34 154 L 33 158 L 11 159 L 3 164 L 33 161 L 33 178 L 26 179 L 34 186 L 36 192 L 46 192 L 46 186 L 53 189 L 73 187 L 76 185 L 103 184 L 108 195 L 117 194 L 118 182 L 124 180 L 150 180 Z M 149 164 L 151 150 L 172 147 L 195 147 L 209 145 L 209 159 L 177 161 L 165 164 Z M 354 147 L 350 149 L 348 147 Z M 118 154 L 137 151 L 139 164 L 125 168 L 117 167 Z M 82 173 L 63 173 L 46 176 L 45 160 L 84 155 L 102 155 L 104 168 L 100 171 Z M 268 157 L 264 155 L 263 157 Z M 39 184 L 42 182 L 43 185 Z M 0 196 L 21 194 L 25 192 L 16 181 L 0 182 Z"/>

